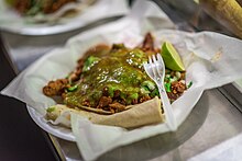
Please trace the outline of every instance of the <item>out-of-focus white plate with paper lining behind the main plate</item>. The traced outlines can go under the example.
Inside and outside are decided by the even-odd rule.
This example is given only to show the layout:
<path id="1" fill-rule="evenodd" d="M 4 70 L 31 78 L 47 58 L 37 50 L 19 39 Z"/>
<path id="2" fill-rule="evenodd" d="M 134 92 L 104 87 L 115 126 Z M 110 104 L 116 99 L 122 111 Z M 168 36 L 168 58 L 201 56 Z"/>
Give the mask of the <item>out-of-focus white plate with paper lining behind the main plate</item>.
<path id="1" fill-rule="evenodd" d="M 79 0 L 69 3 L 51 15 L 21 16 L 0 0 L 0 30 L 22 35 L 48 35 L 77 30 L 101 19 L 120 16 L 129 12 L 125 0 Z M 61 16 L 68 9 L 75 10 L 72 16 Z M 42 22 L 42 23 L 41 23 Z"/>

